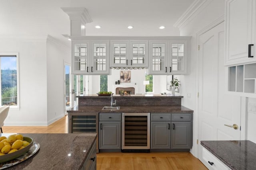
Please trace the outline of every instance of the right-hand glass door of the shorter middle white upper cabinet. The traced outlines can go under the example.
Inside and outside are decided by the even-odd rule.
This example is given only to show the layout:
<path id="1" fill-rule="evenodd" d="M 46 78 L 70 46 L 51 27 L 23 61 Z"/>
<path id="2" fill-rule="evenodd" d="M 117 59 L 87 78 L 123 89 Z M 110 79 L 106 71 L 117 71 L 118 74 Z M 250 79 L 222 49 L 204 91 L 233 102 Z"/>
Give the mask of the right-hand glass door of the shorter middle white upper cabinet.
<path id="1" fill-rule="evenodd" d="M 148 41 L 130 41 L 130 66 L 148 67 Z"/>

